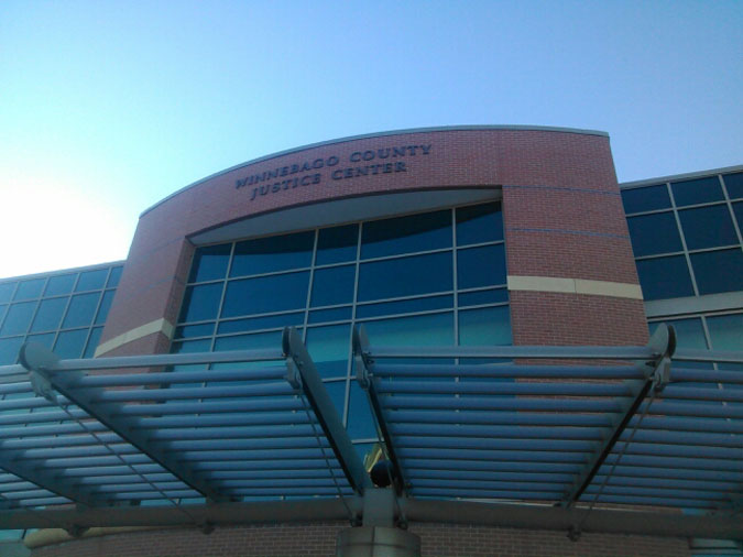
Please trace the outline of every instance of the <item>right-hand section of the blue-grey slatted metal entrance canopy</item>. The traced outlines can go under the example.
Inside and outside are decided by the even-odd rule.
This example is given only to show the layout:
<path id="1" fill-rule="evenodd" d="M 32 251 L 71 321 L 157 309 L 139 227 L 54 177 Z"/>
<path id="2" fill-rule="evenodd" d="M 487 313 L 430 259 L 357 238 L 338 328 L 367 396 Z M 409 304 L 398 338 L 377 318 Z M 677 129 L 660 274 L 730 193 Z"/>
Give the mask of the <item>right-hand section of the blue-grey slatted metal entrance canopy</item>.
<path id="1" fill-rule="evenodd" d="M 411 498 L 741 518 L 743 371 L 708 362 L 743 352 L 675 350 L 662 326 L 646 347 L 378 347 L 362 328 L 354 353 Z"/>

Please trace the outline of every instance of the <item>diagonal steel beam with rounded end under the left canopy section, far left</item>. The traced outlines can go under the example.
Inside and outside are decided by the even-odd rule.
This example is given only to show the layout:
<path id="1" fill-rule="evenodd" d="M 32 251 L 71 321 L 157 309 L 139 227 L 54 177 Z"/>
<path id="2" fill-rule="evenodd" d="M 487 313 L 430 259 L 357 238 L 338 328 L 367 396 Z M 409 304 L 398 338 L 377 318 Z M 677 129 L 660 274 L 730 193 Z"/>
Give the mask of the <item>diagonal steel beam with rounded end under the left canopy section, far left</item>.
<path id="1" fill-rule="evenodd" d="M 45 396 L 48 395 L 50 400 L 56 398 L 48 390 L 51 386 L 207 499 L 211 501 L 228 499 L 227 494 L 217 491 L 187 463 L 179 461 L 176 454 L 166 451 L 165 444 L 153 444 L 145 430 L 135 427 L 136 418 L 122 415 L 121 404 L 100 402 L 101 395 L 106 392 L 103 389 L 75 387 L 74 385 L 83 380 L 84 373 L 70 369 L 69 362 L 70 360 L 61 362 L 54 352 L 40 345 L 29 342 L 21 347 L 21 364 L 31 372 L 32 383 L 39 382 L 40 378 L 48 381 Z M 43 392 L 44 386 L 41 389 Z"/>

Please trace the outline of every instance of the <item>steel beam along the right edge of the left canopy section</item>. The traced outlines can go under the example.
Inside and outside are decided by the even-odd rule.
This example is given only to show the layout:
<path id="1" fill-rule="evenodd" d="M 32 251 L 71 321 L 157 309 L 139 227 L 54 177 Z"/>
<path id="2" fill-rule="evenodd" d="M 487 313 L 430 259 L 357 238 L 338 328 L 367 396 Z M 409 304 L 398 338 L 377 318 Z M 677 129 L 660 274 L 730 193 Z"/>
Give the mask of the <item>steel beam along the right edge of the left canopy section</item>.
<path id="1" fill-rule="evenodd" d="M 353 491 L 359 494 L 371 487 L 369 474 L 359 458 L 351 438 L 348 436 L 343 423 L 338 416 L 327 390 L 323 385 L 313 359 L 309 357 L 302 337 L 294 327 L 285 328 L 283 336 L 284 354 L 287 358 L 287 380 L 293 386 L 299 387 L 312 406 L 336 459 L 343 469 Z M 294 374 L 294 376 L 292 376 Z M 298 376 L 296 376 L 298 374 Z M 297 381 L 298 380 L 298 381 Z"/>

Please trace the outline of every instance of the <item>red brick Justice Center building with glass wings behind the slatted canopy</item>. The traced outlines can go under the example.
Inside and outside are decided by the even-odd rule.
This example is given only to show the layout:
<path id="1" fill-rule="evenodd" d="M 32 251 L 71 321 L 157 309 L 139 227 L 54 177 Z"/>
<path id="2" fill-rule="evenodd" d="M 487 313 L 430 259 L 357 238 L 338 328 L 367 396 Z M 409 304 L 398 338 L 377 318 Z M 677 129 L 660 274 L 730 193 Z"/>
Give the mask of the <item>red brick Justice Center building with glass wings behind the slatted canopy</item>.
<path id="1" fill-rule="evenodd" d="M 46 346 L 63 359 L 189 354 L 280 346 L 283 328 L 296 327 L 339 423 L 363 458 L 389 439 L 380 437 L 379 422 L 384 417 L 378 415 L 373 400 L 370 406 L 357 381 L 354 327 L 363 325 L 372 346 L 430 346 L 431 350 L 442 346 L 642 347 L 648 343 L 648 321 L 652 330 L 664 321 L 675 326 L 679 348 L 741 350 L 741 228 L 743 167 L 620 186 L 609 138 L 602 132 L 457 127 L 329 141 L 228 168 L 176 192 L 141 215 L 123 262 L 0 281 L 0 364 L 14 364 L 25 341 Z M 472 354 L 462 352 L 461 359 L 451 361 L 492 365 L 496 360 L 490 356 L 467 360 Z M 568 356 L 564 360 L 572 361 Z M 591 361 L 603 360 L 597 354 Z M 740 365 L 704 362 L 702 367 L 723 373 Z M 523 378 L 509 381 L 498 383 L 517 385 L 510 387 L 515 396 L 509 400 L 522 400 L 522 384 L 535 383 Z M 467 391 L 456 391 L 460 395 L 467 398 Z M 534 395 L 540 401 L 555 396 Z M 10 394 L 0 406 L 7 401 Z M 737 407 L 734 396 L 722 401 L 725 407 Z M 3 412 L 18 412 L 17 406 L 6 406 Z M 729 424 L 731 416 L 723 419 Z M 415 430 L 409 427 L 402 425 L 403 433 L 390 433 L 400 437 L 401 460 L 408 465 L 401 470 L 408 474 L 407 495 L 544 507 L 559 502 L 565 485 L 571 484 L 554 479 L 554 483 L 540 480 L 533 485 L 513 480 L 507 485 L 511 477 L 481 477 L 468 470 L 476 483 L 465 485 L 455 479 L 448 485 L 451 470 L 431 476 L 430 470 L 423 473 L 416 468 L 416 462 L 438 460 L 438 455 L 431 446 L 405 446 L 405 439 L 416 435 L 405 434 Z M 590 483 L 591 474 L 586 488 L 589 499 L 582 501 L 594 496 L 605 512 L 610 512 L 607 505 L 632 510 L 626 512 L 656 507 L 725 512 L 734 500 L 730 492 L 740 498 L 743 481 L 743 459 L 734 456 L 736 450 L 743 455 L 743 445 L 737 429 L 730 434 L 733 443 L 724 445 L 728 452 L 715 447 L 722 451 L 722 470 L 708 470 L 709 482 L 701 487 L 684 483 L 690 481 L 688 474 L 679 476 L 676 484 L 664 488 L 667 492 L 651 496 L 642 493 L 647 483 L 614 487 L 607 481 L 604 490 L 605 485 Z M 15 435 L 23 440 L 23 435 Z M 480 450 L 477 435 L 468 437 L 474 445 L 457 444 L 454 437 L 440 441 L 439 455 Z M 575 443 L 583 441 L 579 439 Z M 509 443 L 492 443 L 504 451 L 522 441 L 509 437 Z M 610 456 L 614 441 L 604 446 Z M 554 455 L 561 449 L 547 450 Z M 537 473 L 537 468 L 532 472 L 529 465 L 520 463 L 528 459 L 500 455 L 503 466 L 512 465 L 507 473 L 521 469 Z M 43 458 L 36 468 L 67 454 Z M 578 463 L 590 458 L 579 455 L 578 460 L 559 465 L 564 467 L 559 470 L 567 472 L 569 466 L 578 470 Z M 214 459 L 219 459 L 218 450 Z M 611 477 L 597 470 L 598 478 Z M 689 463 L 685 473 L 693 470 Z M 19 483 L 17 476 L 9 472 L 0 478 L 0 487 L 18 484 L 3 495 L 18 500 L 11 509 L 50 509 L 69 502 L 69 496 L 52 496 L 59 495 L 55 490 L 28 495 L 29 487 Z M 231 501 L 346 493 L 334 478 L 307 484 L 282 478 L 285 483 L 266 484 L 251 477 L 253 483 L 237 489 Z M 22 474 L 21 479 L 29 480 Z M 695 491 L 702 488 L 714 494 Z M 117 488 L 116 477 L 107 489 L 109 506 L 134 503 L 142 510 L 162 503 L 167 492 L 144 485 L 134 496 L 131 490 Z M 576 499 L 581 493 L 582 489 Z M 174 488 L 168 496 L 194 500 L 198 506 L 192 495 Z M 718 553 L 737 550 L 734 543 L 695 540 L 692 534 L 653 536 L 642 528 L 620 526 L 594 532 L 586 527 L 573 542 L 566 536 L 567 528 L 549 526 L 548 517 L 539 527 L 538 518 L 518 523 L 500 516 L 484 524 L 446 521 L 426 512 L 428 518 L 413 517 L 405 524 L 420 536 L 425 556 L 704 555 L 708 546 Z M 600 511 L 591 506 L 589 512 Z M 411 513 L 425 515 L 414 507 Z M 400 514 L 404 512 L 395 520 Z M 217 524 L 209 535 L 194 527 L 130 527 L 125 532 L 92 528 L 72 540 L 50 529 L 25 537 L 34 556 L 331 555 L 338 533 L 348 527 L 348 521 L 332 513 L 294 520 L 253 517 L 236 521 L 243 524 Z M 732 521 L 733 529 L 740 526 L 726 514 L 724 520 Z M 7 533 L 12 539 L 23 531 Z M 9 543 L 9 551 L 10 547 Z"/>

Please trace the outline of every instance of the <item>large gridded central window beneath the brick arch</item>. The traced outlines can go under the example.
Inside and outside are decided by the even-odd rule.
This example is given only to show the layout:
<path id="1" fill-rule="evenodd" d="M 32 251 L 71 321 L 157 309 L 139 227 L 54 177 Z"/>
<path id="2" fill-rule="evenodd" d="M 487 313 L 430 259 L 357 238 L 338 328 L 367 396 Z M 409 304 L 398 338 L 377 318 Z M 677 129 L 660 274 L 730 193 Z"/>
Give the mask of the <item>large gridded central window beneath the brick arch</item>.
<path id="1" fill-rule="evenodd" d="M 500 203 L 199 248 L 173 351 L 303 331 L 351 437 L 375 439 L 351 330 L 378 345 L 511 343 Z"/>

